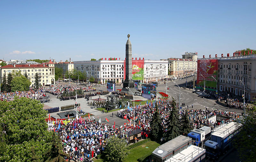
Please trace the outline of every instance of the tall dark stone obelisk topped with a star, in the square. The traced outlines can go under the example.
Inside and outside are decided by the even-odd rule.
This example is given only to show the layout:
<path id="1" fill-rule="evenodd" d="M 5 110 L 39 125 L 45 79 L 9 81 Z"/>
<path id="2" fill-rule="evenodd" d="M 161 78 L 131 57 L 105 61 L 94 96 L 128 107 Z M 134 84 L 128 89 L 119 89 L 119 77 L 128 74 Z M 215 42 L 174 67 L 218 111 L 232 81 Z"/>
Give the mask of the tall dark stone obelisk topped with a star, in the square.
<path id="1" fill-rule="evenodd" d="M 134 81 L 132 80 L 132 44 L 130 41 L 130 34 L 127 35 L 128 40 L 125 45 L 125 80 L 124 87 L 122 92 L 129 93 L 129 90 L 126 87 L 129 87 L 130 90 L 135 93 L 137 90 L 134 88 Z"/>

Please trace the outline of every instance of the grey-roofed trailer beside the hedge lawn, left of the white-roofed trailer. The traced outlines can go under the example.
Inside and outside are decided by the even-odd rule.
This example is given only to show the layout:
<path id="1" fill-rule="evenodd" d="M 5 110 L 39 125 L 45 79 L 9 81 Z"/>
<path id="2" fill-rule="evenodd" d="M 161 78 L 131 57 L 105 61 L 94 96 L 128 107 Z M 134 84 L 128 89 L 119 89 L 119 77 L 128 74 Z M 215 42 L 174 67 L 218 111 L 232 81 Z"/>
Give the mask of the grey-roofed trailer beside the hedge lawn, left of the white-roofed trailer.
<path id="1" fill-rule="evenodd" d="M 173 155 L 180 153 L 187 147 L 192 145 L 192 139 L 190 137 L 178 136 L 172 140 L 158 146 L 152 152 L 152 162 L 164 162 L 171 158 Z"/>

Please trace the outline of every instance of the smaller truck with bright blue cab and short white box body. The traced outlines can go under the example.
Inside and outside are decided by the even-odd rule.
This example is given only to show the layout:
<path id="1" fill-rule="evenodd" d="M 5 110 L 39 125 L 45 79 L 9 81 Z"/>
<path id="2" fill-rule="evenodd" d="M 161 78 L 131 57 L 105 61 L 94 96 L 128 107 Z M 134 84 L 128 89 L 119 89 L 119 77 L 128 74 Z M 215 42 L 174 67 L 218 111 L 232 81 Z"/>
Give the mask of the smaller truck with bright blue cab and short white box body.
<path id="1" fill-rule="evenodd" d="M 211 135 L 211 128 L 207 126 L 203 126 L 199 129 L 191 130 L 188 133 L 188 137 L 191 137 L 194 140 L 194 144 L 196 146 L 199 146 L 202 144 L 202 141 L 205 140 L 205 138 L 210 137 Z"/>

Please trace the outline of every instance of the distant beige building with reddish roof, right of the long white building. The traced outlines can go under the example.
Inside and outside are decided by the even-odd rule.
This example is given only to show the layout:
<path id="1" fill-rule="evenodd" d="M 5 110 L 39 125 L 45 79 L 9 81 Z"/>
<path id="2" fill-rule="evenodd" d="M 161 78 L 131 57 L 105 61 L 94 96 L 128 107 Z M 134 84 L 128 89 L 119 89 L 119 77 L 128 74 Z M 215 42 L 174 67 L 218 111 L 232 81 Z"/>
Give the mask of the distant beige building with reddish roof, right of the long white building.
<path id="1" fill-rule="evenodd" d="M 169 58 L 167 61 L 171 77 L 177 77 L 178 79 L 185 76 L 190 76 L 197 71 L 197 61 L 178 58 Z"/>

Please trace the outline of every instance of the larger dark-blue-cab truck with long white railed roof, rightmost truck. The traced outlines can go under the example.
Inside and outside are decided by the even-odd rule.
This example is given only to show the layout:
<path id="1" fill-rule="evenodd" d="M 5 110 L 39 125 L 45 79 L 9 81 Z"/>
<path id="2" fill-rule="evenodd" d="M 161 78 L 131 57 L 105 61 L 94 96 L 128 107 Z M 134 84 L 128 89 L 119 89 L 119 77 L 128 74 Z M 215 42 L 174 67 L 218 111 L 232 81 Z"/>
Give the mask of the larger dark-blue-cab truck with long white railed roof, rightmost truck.
<path id="1" fill-rule="evenodd" d="M 205 142 L 206 156 L 214 160 L 225 154 L 231 147 L 231 141 L 239 132 L 236 122 L 227 121 L 212 130 L 211 138 Z"/>

